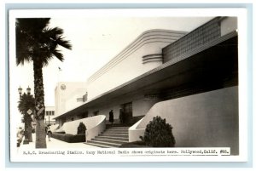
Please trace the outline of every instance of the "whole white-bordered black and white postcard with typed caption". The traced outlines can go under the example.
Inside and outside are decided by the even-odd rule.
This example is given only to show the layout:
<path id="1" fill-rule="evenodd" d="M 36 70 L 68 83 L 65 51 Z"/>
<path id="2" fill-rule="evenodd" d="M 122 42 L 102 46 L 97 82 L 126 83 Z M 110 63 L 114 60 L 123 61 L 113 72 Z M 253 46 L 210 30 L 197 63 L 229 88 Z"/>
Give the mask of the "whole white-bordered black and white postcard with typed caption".
<path id="1" fill-rule="evenodd" d="M 9 10 L 10 161 L 246 161 L 245 14 Z"/>

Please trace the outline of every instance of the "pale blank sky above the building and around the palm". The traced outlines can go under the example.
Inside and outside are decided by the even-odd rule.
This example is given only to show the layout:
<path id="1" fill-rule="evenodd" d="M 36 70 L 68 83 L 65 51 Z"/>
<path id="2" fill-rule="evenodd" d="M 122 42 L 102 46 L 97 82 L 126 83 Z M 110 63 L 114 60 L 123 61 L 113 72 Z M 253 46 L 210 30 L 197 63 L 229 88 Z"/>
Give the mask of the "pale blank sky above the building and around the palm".
<path id="1" fill-rule="evenodd" d="M 40 13 L 43 14 L 43 13 Z M 63 14 L 63 13 L 62 13 Z M 192 31 L 201 26 L 212 16 L 208 17 L 168 17 L 155 15 L 125 15 L 104 14 L 53 14 L 49 27 L 58 26 L 64 30 L 63 37 L 69 40 L 72 50 L 60 48 L 64 61 L 51 60 L 43 69 L 44 75 L 44 105 L 55 105 L 55 86 L 58 82 L 86 82 L 94 72 L 119 54 L 127 45 L 134 41 L 143 31 L 150 29 L 166 29 L 173 31 Z M 22 14 L 15 15 L 23 16 Z M 38 16 L 35 14 L 35 16 Z M 27 16 L 26 16 L 27 17 Z M 29 17 L 33 17 L 30 13 Z M 15 17 L 14 17 L 15 18 Z M 14 24 L 15 20 L 10 20 Z M 15 36 L 15 26 L 10 29 L 10 40 Z M 13 34 L 12 34 L 13 33 Z M 14 42 L 15 43 L 15 42 Z M 19 100 L 18 88 L 32 88 L 32 63 L 24 66 L 15 64 L 15 46 L 10 46 L 9 77 L 10 101 L 16 109 Z M 59 70 L 61 68 L 61 71 Z"/>

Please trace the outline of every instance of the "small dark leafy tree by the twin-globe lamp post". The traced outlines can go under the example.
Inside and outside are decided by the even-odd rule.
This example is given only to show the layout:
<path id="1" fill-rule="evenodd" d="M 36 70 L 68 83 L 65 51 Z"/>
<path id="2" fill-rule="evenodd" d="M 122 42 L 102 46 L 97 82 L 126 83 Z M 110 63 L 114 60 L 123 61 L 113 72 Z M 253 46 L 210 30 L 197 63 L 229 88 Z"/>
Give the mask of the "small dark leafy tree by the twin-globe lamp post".
<path id="1" fill-rule="evenodd" d="M 32 117 L 27 113 L 28 110 L 34 111 L 35 109 L 35 98 L 32 96 L 32 94 L 24 93 L 20 95 L 18 109 L 23 115 L 21 122 L 25 123 L 25 140 L 32 142 Z"/>

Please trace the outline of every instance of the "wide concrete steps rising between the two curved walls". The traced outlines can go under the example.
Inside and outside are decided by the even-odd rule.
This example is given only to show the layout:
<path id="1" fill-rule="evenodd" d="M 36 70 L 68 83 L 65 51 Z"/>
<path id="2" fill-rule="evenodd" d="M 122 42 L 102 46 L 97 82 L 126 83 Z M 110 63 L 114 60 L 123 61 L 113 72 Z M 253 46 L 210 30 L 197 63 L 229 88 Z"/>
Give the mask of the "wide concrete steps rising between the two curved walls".
<path id="1" fill-rule="evenodd" d="M 108 126 L 106 130 L 92 140 L 88 140 L 86 145 L 94 145 L 102 148 L 118 148 L 120 145 L 128 143 L 128 128 L 120 125 Z"/>

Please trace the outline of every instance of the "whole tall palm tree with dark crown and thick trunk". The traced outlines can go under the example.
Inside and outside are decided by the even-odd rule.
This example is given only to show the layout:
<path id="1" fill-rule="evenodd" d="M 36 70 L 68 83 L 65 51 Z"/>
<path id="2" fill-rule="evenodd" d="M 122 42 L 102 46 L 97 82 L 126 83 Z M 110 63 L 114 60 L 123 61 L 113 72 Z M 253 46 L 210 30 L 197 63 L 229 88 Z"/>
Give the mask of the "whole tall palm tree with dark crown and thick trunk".
<path id="1" fill-rule="evenodd" d="M 44 81 L 43 67 L 56 57 L 63 61 L 60 46 L 72 49 L 71 43 L 64 40 L 63 30 L 49 28 L 49 18 L 16 20 L 16 64 L 33 62 L 36 126 L 36 148 L 46 148 L 44 126 Z"/>

